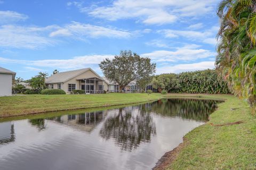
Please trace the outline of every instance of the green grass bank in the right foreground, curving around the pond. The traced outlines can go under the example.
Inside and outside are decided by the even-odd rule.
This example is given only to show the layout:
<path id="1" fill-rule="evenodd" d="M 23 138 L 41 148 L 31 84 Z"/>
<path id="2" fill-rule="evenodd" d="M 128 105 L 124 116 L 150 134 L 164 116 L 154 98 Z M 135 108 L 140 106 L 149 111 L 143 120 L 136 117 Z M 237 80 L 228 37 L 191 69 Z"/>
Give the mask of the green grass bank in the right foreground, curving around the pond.
<path id="1" fill-rule="evenodd" d="M 209 122 L 185 135 L 167 169 L 256 169 L 256 117 L 251 108 L 231 95 L 203 97 L 226 100 Z M 243 123 L 224 125 L 238 121 Z"/>

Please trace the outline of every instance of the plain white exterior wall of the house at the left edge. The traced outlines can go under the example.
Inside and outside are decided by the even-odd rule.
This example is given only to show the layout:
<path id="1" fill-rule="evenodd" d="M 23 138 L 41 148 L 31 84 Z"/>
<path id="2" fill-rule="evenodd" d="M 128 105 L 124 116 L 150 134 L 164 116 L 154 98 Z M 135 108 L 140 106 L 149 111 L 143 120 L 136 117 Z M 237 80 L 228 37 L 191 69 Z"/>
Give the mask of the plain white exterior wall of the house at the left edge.
<path id="1" fill-rule="evenodd" d="M 12 74 L 0 73 L 0 96 L 12 95 Z"/>

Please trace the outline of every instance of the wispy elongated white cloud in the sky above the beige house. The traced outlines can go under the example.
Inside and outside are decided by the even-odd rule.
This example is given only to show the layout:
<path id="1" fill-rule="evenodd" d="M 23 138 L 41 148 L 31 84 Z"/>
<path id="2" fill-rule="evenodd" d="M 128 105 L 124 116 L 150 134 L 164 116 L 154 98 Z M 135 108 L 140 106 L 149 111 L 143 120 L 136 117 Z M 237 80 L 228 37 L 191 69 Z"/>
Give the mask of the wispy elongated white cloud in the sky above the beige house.
<path id="1" fill-rule="evenodd" d="M 106 28 L 91 24 L 83 24 L 79 22 L 72 22 L 71 24 L 65 25 L 57 31 L 50 33 L 50 37 L 55 36 L 72 36 L 73 38 L 130 38 L 134 36 L 134 32 L 126 30 L 118 30 L 116 28 Z"/>

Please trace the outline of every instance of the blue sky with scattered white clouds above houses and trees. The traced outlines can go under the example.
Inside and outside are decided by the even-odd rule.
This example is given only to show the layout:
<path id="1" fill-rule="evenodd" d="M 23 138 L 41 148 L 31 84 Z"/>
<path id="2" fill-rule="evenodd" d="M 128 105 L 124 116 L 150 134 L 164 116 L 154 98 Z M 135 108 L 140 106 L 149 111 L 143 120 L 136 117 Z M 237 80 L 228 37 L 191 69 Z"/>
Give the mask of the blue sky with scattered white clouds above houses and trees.
<path id="1" fill-rule="evenodd" d="M 120 50 L 148 56 L 156 73 L 214 68 L 215 0 L 0 0 L 0 66 L 29 79 L 91 67 Z"/>

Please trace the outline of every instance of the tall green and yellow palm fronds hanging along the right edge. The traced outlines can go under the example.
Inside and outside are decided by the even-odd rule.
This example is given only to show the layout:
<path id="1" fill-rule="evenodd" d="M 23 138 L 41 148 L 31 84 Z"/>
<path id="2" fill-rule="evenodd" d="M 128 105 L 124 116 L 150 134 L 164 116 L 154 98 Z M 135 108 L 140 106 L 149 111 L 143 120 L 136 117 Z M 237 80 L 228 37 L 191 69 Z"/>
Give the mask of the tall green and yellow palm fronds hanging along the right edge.
<path id="1" fill-rule="evenodd" d="M 219 73 L 234 94 L 255 104 L 256 74 L 256 1 L 225 0 L 218 7 Z"/>

